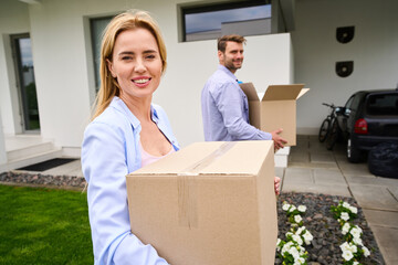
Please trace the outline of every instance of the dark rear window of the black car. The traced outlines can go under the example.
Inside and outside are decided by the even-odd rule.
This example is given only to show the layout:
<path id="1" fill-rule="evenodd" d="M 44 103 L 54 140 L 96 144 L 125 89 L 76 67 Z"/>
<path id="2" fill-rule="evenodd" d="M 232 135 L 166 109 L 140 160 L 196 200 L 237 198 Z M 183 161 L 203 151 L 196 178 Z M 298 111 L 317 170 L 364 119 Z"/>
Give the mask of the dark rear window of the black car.
<path id="1" fill-rule="evenodd" d="M 369 95 L 366 113 L 368 115 L 398 115 L 398 94 Z"/>

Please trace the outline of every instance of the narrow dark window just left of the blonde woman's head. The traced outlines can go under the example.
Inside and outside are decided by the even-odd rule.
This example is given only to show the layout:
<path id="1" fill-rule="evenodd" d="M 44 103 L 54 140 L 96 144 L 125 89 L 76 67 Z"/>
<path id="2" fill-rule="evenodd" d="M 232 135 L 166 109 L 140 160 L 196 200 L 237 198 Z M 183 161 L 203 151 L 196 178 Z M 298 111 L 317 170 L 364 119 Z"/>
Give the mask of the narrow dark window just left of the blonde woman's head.
<path id="1" fill-rule="evenodd" d="M 90 31 L 93 45 L 94 72 L 95 72 L 95 92 L 98 92 L 101 85 L 100 77 L 100 59 L 101 59 L 101 41 L 106 25 L 113 17 L 95 18 L 90 20 Z"/>

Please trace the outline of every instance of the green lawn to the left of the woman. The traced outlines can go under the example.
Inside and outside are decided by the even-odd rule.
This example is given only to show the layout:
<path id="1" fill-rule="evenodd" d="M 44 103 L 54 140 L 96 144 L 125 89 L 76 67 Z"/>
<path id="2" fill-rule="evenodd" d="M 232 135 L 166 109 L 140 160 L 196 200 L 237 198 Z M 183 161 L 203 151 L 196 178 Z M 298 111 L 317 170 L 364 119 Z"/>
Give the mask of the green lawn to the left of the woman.
<path id="1" fill-rule="evenodd" d="M 0 186 L 0 264 L 93 264 L 86 193 Z"/>

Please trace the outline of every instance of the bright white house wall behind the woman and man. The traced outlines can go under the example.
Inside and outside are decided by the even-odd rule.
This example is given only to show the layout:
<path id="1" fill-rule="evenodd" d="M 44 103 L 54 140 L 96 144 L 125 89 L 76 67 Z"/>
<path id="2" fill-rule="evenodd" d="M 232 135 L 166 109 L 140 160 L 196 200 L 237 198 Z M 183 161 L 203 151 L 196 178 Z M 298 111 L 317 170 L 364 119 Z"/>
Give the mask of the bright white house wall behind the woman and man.
<path id="1" fill-rule="evenodd" d="M 203 140 L 200 92 L 217 68 L 217 44 L 216 40 L 178 43 L 177 3 L 189 1 L 42 0 L 40 4 L 11 2 L 17 2 L 19 11 L 23 11 L 19 15 L 22 15 L 24 21 L 29 19 L 20 31 L 31 33 L 43 138 L 53 139 L 55 146 L 78 153 L 83 131 L 90 120 L 95 89 L 87 18 L 116 14 L 136 8 L 154 14 L 168 49 L 168 68 L 154 102 L 168 113 L 174 131 L 182 146 Z M 29 12 L 25 11 L 27 8 Z M 13 22 L 13 18 L 7 17 L 1 24 L 9 25 L 10 22 Z M 4 31 L 6 29 L 2 30 Z M 249 36 L 244 67 L 237 76 L 244 82 L 253 82 L 262 92 L 269 84 L 290 83 L 290 34 Z M 3 61 L 1 60 L 2 64 Z M 1 67 L 7 68 L 4 65 Z M 7 81 L 0 82 L 1 93 L 7 94 Z M 10 127 L 13 121 L 8 116 L 12 113 L 11 106 L 9 99 L 4 102 L 8 104 L 3 107 L 2 103 L 4 110 L 1 112 L 6 121 L 4 131 L 12 134 Z"/>

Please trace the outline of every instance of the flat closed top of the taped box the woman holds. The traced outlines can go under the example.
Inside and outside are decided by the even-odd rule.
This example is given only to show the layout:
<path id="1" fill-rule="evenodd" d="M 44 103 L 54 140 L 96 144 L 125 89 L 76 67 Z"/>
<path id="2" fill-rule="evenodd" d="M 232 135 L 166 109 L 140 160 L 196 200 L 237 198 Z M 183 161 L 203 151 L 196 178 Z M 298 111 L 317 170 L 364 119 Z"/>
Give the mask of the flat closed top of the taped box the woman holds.
<path id="1" fill-rule="evenodd" d="M 130 174 L 253 176 L 271 148 L 272 141 L 196 142 Z"/>

